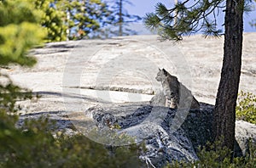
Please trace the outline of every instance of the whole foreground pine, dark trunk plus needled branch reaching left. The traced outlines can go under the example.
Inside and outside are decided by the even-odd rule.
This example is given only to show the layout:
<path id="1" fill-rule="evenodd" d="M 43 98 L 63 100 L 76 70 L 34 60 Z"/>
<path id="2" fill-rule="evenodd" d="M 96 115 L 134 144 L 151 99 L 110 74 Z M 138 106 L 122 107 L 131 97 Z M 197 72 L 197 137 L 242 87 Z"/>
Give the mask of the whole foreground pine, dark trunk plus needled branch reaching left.
<path id="1" fill-rule="evenodd" d="M 222 11 L 224 17 L 224 61 L 215 104 L 215 140 L 224 136 L 225 147 L 234 149 L 236 98 L 241 74 L 241 48 L 243 30 L 244 0 L 189 0 L 178 2 L 167 9 L 158 3 L 155 14 L 146 15 L 145 24 L 157 30 L 163 39 L 179 41 L 182 36 L 202 31 L 206 36 L 220 36 L 217 17 Z M 213 19 L 212 19 L 213 18 Z"/>

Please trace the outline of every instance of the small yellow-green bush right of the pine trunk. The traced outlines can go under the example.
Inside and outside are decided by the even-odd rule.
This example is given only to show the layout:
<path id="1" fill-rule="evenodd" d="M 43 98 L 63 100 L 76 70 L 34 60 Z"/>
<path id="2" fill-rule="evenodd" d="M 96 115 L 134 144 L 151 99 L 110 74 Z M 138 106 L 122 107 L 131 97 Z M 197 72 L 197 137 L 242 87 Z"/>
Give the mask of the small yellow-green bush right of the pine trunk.
<path id="1" fill-rule="evenodd" d="M 256 95 L 242 91 L 238 94 L 236 119 L 256 124 Z"/>

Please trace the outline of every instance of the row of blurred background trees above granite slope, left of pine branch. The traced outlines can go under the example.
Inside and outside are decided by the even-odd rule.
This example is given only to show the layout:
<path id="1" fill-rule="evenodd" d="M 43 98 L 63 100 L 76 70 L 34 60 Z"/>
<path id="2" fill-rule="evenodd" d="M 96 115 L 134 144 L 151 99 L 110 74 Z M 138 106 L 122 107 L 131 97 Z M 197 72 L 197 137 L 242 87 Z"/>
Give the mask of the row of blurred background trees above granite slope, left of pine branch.
<path id="1" fill-rule="evenodd" d="M 128 14 L 128 0 L 103 3 L 102 0 L 30 0 L 41 14 L 40 24 L 47 32 L 46 42 L 82 38 L 133 35 L 129 23 L 141 20 Z M 118 29 L 113 29 L 118 27 Z"/>

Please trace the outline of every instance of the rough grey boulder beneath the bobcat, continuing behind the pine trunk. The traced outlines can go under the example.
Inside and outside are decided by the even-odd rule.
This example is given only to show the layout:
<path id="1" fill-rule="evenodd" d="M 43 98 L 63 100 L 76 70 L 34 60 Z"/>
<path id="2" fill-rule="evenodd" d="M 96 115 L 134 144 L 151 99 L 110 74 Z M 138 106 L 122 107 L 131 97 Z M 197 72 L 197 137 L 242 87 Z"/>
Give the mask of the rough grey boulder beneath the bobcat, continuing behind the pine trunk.
<path id="1" fill-rule="evenodd" d="M 142 152 L 141 160 L 162 167 L 172 160 L 198 160 L 198 148 L 212 142 L 214 106 L 200 105 L 200 110 L 183 113 L 181 109 L 145 103 L 105 104 L 88 109 L 86 115 L 92 116 L 99 130 L 111 129 L 133 137 L 136 143 L 145 143 L 147 150 Z M 114 126 L 119 129 L 112 129 Z M 236 121 L 236 155 L 247 154 L 250 139 L 256 142 L 256 126 Z"/>

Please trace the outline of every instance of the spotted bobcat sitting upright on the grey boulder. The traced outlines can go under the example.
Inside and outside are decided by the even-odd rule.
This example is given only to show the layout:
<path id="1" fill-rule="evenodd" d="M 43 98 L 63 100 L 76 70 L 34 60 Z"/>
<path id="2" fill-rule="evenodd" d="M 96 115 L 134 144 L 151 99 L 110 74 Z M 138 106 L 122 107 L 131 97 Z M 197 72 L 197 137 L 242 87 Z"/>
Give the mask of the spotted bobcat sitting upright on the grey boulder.
<path id="1" fill-rule="evenodd" d="M 177 81 L 176 76 L 172 76 L 165 69 L 160 70 L 155 77 L 156 81 L 160 81 L 163 87 L 164 95 L 166 97 L 166 107 L 177 109 L 177 107 L 184 107 L 188 104 L 189 98 L 192 97 L 190 109 L 200 109 L 200 105 L 189 89 Z M 180 93 L 183 94 L 183 100 L 180 101 Z"/>

